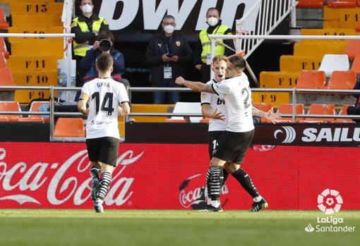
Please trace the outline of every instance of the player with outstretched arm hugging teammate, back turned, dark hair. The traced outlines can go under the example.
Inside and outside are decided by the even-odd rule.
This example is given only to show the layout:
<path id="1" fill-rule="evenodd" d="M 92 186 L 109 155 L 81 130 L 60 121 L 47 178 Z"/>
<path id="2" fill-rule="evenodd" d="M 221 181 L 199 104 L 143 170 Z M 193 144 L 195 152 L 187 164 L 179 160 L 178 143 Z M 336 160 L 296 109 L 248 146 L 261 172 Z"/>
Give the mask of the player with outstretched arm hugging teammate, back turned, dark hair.
<path id="1" fill-rule="evenodd" d="M 246 76 L 242 75 L 246 66 L 246 61 L 239 56 L 234 56 L 227 62 L 227 78 L 220 83 L 212 85 L 202 82 L 192 82 L 177 78 L 178 85 L 184 85 L 200 92 L 208 92 L 224 97 L 227 109 L 227 127 L 220 136 L 219 147 L 210 161 L 208 170 L 208 186 L 210 187 L 210 207 L 209 211 L 222 211 L 220 207 L 220 189 L 224 179 L 223 167 L 227 164 L 227 169 L 239 180 L 239 183 L 253 197 L 251 211 L 259 211 L 268 207 L 268 202 L 261 197 L 250 176 L 240 167 L 246 150 L 253 140 L 254 126 L 253 116 L 268 118 L 273 123 L 276 122 L 277 114 L 272 110 L 268 112 L 260 111 L 251 105 L 251 90 Z"/>

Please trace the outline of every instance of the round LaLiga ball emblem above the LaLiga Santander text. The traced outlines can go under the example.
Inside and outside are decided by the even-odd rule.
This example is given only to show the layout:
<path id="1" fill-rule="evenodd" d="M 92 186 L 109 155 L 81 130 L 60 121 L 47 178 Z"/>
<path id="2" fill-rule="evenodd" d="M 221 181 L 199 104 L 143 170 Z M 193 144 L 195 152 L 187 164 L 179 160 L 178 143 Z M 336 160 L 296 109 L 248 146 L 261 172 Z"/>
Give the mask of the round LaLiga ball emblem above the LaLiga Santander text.
<path id="1" fill-rule="evenodd" d="M 340 192 L 337 190 L 325 189 L 318 195 L 318 208 L 325 214 L 335 214 L 340 211 L 343 204 Z"/>

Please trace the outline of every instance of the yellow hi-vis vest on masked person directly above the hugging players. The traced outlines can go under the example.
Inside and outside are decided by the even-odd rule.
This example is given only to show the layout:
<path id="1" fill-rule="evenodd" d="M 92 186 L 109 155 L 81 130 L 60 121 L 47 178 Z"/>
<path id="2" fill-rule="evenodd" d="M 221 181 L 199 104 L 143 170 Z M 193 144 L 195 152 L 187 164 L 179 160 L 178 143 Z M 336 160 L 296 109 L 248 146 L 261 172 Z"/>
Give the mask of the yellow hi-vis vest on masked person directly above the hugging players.
<path id="1" fill-rule="evenodd" d="M 215 30 L 212 32 L 212 34 L 215 35 L 224 35 L 224 33 L 229 29 L 226 25 L 220 25 L 219 27 L 216 27 Z M 208 36 L 208 28 L 205 28 L 202 30 L 199 34 L 200 42 L 203 45 L 203 52 L 201 53 L 201 61 L 203 63 L 206 63 L 208 59 L 208 54 L 211 54 L 211 41 Z M 222 39 L 219 39 L 221 42 L 223 42 Z M 223 45 L 216 45 L 215 46 L 215 56 L 224 56 L 225 54 L 225 47 Z"/>

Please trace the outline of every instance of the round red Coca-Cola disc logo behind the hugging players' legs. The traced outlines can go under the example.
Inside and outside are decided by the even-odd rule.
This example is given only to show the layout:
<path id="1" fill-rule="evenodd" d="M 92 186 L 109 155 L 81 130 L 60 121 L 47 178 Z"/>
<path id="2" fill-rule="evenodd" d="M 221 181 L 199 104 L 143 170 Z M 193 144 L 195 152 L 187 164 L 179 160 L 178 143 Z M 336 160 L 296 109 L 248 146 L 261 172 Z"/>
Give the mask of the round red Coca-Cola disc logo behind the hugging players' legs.
<path id="1" fill-rule="evenodd" d="M 205 187 L 205 178 L 199 178 L 201 174 L 193 175 L 186 178 L 180 185 L 179 202 L 182 207 L 188 209 L 204 209 L 205 197 L 208 197 L 208 189 Z M 221 187 L 220 195 L 227 195 L 229 190 L 227 185 Z M 227 197 L 224 198 L 224 204 L 227 202 Z M 224 206 L 222 204 L 222 206 Z"/>

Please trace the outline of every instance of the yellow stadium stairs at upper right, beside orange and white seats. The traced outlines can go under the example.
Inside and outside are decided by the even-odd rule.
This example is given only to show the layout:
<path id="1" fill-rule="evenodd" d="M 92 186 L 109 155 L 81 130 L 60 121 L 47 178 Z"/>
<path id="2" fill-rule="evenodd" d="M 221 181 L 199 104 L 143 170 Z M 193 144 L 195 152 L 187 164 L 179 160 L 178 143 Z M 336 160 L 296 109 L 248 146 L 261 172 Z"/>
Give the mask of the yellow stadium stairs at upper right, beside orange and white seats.
<path id="1" fill-rule="evenodd" d="M 337 1 L 333 1 L 337 2 Z M 349 1 L 347 1 L 349 2 Z M 359 35 L 360 31 L 360 1 L 354 1 L 352 4 L 328 4 L 328 1 L 304 0 L 299 1 L 297 8 L 301 10 L 316 10 L 323 12 L 323 28 L 320 29 L 301 29 L 301 35 Z M 330 2 L 329 2 L 330 3 Z M 357 3 L 357 5 L 356 5 Z M 297 13 L 297 12 L 296 12 Z M 356 28 L 357 27 L 357 28 Z M 356 40 L 357 42 L 357 40 Z M 294 55 L 284 55 L 280 57 L 280 71 L 263 71 L 260 73 L 260 87 L 264 88 L 293 88 L 299 81 L 299 76 L 303 70 L 318 70 L 325 54 L 348 54 L 350 64 L 357 53 L 360 54 L 359 44 L 347 40 L 321 40 L 307 39 L 294 44 Z M 351 51 L 349 50 L 350 48 Z M 356 70 L 356 68 L 352 69 Z M 327 78 L 325 88 L 328 87 Z M 338 87 L 338 86 L 337 86 Z M 341 85 L 340 85 L 341 87 Z M 345 87 L 348 85 L 344 84 Z M 340 88 L 339 88 L 340 89 Z M 274 106 L 288 103 L 291 101 L 290 94 L 277 97 L 276 102 L 253 97 L 254 102 L 270 102 Z M 282 99 L 284 101 L 282 101 Z M 328 103 L 335 104 L 353 104 L 354 97 L 348 95 L 299 95 L 298 103 Z"/>

